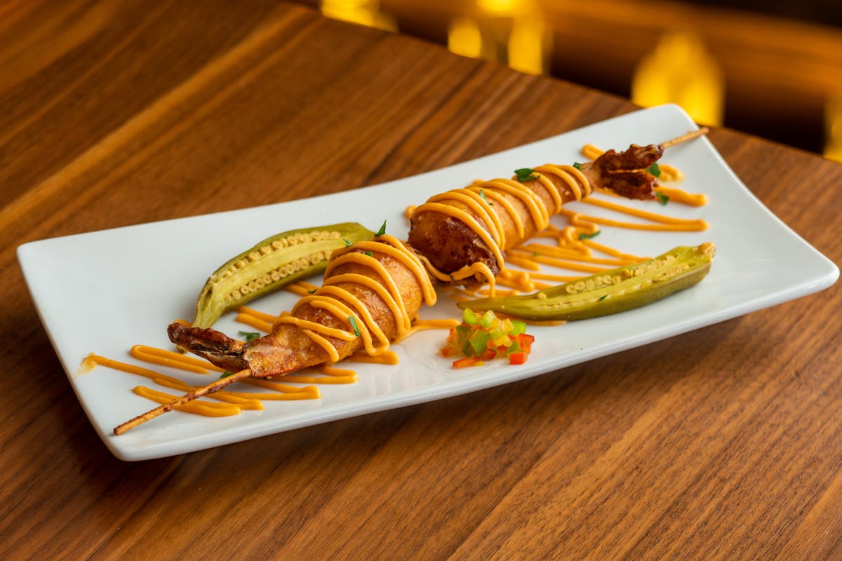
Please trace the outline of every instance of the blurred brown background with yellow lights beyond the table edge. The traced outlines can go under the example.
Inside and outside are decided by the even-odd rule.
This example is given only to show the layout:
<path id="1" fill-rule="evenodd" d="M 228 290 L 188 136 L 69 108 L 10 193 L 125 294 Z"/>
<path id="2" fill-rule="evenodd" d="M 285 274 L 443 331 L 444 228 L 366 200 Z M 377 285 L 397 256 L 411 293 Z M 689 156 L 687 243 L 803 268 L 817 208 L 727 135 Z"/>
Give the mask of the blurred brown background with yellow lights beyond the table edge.
<path id="1" fill-rule="evenodd" d="M 842 160 L 835 0 L 297 1 Z"/>

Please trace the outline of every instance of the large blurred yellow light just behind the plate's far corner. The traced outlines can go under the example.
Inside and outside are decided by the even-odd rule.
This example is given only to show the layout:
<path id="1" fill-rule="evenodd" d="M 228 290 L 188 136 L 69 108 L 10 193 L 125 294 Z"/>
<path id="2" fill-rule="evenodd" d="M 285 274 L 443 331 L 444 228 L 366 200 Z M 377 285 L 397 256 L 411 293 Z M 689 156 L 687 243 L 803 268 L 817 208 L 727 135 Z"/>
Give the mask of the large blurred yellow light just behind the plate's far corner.
<path id="1" fill-rule="evenodd" d="M 644 107 L 678 103 L 694 120 L 722 124 L 722 70 L 694 34 L 664 34 L 632 77 L 632 101 Z"/>

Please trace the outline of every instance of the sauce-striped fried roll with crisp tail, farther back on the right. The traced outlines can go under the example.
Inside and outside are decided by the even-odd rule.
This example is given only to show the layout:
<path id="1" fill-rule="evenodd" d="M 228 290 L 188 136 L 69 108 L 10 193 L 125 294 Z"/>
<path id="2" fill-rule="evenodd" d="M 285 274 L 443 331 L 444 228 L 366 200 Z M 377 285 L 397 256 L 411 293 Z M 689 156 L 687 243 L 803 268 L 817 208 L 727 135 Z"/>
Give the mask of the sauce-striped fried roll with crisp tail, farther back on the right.
<path id="1" fill-rule="evenodd" d="M 486 283 L 504 265 L 504 251 L 549 225 L 562 205 L 603 188 L 626 198 L 654 198 L 646 170 L 663 146 L 632 145 L 577 166 L 547 164 L 511 179 L 475 182 L 429 198 L 411 214 L 408 243 L 435 278 Z"/>

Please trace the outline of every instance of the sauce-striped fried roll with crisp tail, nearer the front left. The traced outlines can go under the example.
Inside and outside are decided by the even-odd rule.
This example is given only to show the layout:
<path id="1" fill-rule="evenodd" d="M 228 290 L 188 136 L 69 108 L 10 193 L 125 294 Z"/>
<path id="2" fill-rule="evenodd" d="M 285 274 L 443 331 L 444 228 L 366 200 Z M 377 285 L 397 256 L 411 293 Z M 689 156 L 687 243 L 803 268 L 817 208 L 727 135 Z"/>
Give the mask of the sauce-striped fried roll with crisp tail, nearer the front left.
<path id="1" fill-rule="evenodd" d="M 409 331 L 422 302 L 435 303 L 423 264 L 402 241 L 384 235 L 334 251 L 322 287 L 281 315 L 269 335 L 242 343 L 173 323 L 168 336 L 221 368 L 248 368 L 265 378 L 336 363 L 360 349 L 385 352 Z"/>

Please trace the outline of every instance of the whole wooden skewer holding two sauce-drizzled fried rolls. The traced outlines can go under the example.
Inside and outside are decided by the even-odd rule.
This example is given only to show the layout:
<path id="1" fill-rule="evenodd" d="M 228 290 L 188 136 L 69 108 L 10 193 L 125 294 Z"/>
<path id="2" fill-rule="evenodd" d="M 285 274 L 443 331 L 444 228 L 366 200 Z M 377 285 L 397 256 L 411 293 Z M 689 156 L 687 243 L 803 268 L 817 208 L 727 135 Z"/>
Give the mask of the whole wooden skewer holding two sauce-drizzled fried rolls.
<path id="1" fill-rule="evenodd" d="M 526 170 L 529 173 L 518 181 L 475 183 L 434 196 L 413 213 L 410 247 L 392 236 L 378 236 L 375 241 L 334 251 L 322 288 L 301 299 L 290 315 L 281 316 L 269 335 L 250 343 L 212 329 L 178 322 L 169 325 L 173 343 L 237 372 L 126 421 L 115 427 L 115 435 L 242 378 L 265 378 L 336 363 L 362 347 L 372 355 L 383 352 L 408 332 L 422 300 L 428 305 L 435 303 L 424 266 L 443 281 L 493 281 L 503 266 L 503 251 L 546 228 L 549 209 L 556 214 L 563 204 L 588 196 L 591 183 L 626 198 L 654 198 L 657 181 L 647 168 L 665 148 L 707 132 L 701 128 L 661 145 L 606 151 L 595 161 L 576 167 L 541 166 Z M 438 219 L 431 218 L 437 213 Z M 482 264 L 479 274 L 477 263 Z M 457 278 L 454 273 L 459 272 L 466 274 Z"/>

